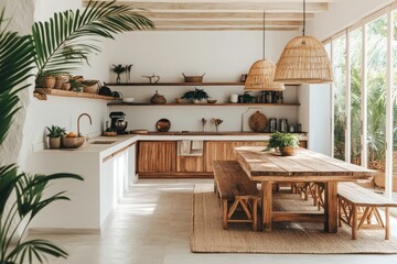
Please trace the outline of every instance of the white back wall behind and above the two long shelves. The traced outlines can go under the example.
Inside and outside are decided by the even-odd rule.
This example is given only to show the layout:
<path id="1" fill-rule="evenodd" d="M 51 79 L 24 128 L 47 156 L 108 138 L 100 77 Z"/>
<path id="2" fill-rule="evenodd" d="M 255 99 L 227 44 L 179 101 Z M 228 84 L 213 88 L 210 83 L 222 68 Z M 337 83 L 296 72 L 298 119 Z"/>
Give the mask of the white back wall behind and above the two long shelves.
<path id="1" fill-rule="evenodd" d="M 278 61 L 283 46 L 298 32 L 266 32 L 266 57 Z M 202 75 L 204 81 L 238 81 L 254 62 L 262 56 L 261 32 L 132 32 L 109 44 L 111 64 L 133 64 L 131 80 L 148 81 L 142 75 L 159 75 L 160 81 L 183 81 L 182 73 Z M 108 81 L 115 82 L 111 74 Z M 121 76 L 125 81 L 125 76 Z M 232 94 L 243 94 L 243 87 L 198 87 L 218 102 L 228 102 Z M 169 102 L 194 87 L 111 87 L 137 102 L 149 102 L 159 90 Z M 297 102 L 297 88 L 285 91 L 286 102 Z M 154 130 L 161 118 L 170 119 L 171 130 L 200 131 L 202 118 L 219 118 L 221 131 L 240 131 L 242 114 L 247 107 L 110 107 L 109 111 L 124 111 L 128 129 Z M 297 107 L 265 107 L 268 118 L 288 118 L 298 122 Z M 215 130 L 214 127 L 208 128 Z"/>

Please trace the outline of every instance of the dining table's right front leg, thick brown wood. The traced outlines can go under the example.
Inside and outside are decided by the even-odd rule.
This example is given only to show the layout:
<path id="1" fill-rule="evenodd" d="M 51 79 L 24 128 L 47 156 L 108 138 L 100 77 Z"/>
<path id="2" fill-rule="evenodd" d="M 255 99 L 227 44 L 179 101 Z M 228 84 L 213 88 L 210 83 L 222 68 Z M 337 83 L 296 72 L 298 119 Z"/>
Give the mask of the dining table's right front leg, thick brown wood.
<path id="1" fill-rule="evenodd" d="M 325 183 L 325 224 L 324 230 L 329 233 L 337 232 L 337 182 Z"/>

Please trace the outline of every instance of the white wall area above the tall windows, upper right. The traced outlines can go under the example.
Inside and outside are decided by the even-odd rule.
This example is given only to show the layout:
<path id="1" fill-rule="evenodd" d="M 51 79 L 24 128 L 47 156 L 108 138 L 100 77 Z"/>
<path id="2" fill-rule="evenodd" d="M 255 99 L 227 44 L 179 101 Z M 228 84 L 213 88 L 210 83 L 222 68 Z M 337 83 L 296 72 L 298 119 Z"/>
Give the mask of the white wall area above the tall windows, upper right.
<path id="1" fill-rule="evenodd" d="M 308 35 L 324 40 L 394 2 L 393 0 L 340 0 L 329 4 L 329 11 L 308 21 Z"/>

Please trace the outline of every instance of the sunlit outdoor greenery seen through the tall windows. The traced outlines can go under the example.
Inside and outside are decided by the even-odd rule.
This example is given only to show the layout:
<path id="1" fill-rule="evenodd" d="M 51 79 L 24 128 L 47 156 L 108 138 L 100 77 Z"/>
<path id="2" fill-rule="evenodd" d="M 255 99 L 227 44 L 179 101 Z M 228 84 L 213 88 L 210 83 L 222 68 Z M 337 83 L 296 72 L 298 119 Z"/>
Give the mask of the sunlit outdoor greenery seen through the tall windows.
<path id="1" fill-rule="evenodd" d="M 393 55 L 397 66 L 397 15 L 394 15 Z M 384 170 L 386 157 L 386 69 L 387 69 L 387 16 L 382 16 L 366 26 L 367 32 L 367 146 L 368 166 Z M 350 35 L 351 73 L 351 160 L 360 164 L 362 134 L 362 35 L 361 29 Z M 345 129 L 346 129 L 346 59 L 345 37 L 333 42 L 335 101 L 334 101 L 334 156 L 344 160 Z M 336 59 L 335 59 L 336 56 Z M 393 109 L 397 117 L 397 73 L 394 76 Z M 396 121 L 395 121 L 396 122 Z M 393 129 L 394 150 L 397 150 L 397 128 Z"/>

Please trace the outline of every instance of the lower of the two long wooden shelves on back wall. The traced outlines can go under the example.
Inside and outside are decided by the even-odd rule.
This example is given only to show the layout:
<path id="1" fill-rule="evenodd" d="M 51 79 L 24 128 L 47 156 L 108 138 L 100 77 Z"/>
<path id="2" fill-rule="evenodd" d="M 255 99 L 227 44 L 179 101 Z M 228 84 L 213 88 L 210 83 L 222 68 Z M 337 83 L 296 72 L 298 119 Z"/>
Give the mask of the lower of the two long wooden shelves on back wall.
<path id="1" fill-rule="evenodd" d="M 150 106 L 150 107 L 265 107 L 265 106 L 278 106 L 278 107 L 291 107 L 300 106 L 297 103 L 165 103 L 165 105 L 154 105 L 154 103 L 126 103 L 126 102 L 108 102 L 108 106 L 128 106 L 128 107 L 139 107 L 139 106 Z"/>

